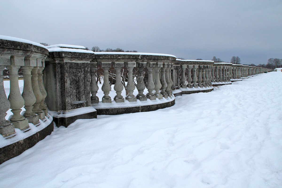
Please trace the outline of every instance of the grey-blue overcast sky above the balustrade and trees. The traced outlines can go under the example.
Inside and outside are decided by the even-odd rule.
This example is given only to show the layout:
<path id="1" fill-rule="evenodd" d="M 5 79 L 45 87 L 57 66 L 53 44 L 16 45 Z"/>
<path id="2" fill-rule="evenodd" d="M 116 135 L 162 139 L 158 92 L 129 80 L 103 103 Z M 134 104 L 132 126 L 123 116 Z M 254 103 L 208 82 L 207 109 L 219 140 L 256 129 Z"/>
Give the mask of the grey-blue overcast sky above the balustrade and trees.
<path id="1" fill-rule="evenodd" d="M 241 63 L 282 59 L 282 1 L 0 0 L 0 35 Z"/>

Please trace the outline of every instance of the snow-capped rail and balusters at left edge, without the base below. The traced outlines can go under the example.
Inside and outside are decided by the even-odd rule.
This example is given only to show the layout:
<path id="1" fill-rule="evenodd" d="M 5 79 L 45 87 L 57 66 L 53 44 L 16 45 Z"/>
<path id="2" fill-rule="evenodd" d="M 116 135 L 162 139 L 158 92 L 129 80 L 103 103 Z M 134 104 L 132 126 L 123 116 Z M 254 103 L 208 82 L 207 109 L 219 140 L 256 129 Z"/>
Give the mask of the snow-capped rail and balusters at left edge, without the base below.
<path id="1" fill-rule="evenodd" d="M 44 103 L 46 91 L 43 85 L 45 59 L 48 50 L 41 44 L 1 36 L 0 38 L 0 134 L 6 138 L 15 136 L 15 128 L 29 131 L 28 123 L 39 124 L 47 116 Z M 10 78 L 8 99 L 3 87 L 3 70 L 7 68 Z M 18 70 L 23 70 L 23 92 L 19 88 Z M 22 112 L 24 107 L 25 112 Z M 6 120 L 7 111 L 12 115 Z M 21 113 L 22 112 L 22 113 Z"/>

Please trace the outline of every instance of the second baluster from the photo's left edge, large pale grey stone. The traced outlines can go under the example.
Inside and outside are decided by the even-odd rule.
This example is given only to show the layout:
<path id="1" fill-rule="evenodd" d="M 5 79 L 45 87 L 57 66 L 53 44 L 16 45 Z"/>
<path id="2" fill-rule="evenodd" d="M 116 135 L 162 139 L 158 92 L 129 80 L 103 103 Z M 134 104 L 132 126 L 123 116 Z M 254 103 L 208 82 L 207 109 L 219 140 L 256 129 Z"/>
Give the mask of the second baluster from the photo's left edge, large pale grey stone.
<path id="1" fill-rule="evenodd" d="M 10 108 L 13 112 L 13 116 L 10 118 L 10 121 L 14 124 L 15 128 L 21 130 L 28 129 L 29 127 L 28 120 L 20 114 L 21 108 L 25 104 L 25 100 L 21 96 L 21 92 L 19 90 L 18 70 L 23 65 L 23 56 L 11 56 L 10 66 L 7 66 L 10 77 L 10 95 L 8 100 L 10 101 Z"/>

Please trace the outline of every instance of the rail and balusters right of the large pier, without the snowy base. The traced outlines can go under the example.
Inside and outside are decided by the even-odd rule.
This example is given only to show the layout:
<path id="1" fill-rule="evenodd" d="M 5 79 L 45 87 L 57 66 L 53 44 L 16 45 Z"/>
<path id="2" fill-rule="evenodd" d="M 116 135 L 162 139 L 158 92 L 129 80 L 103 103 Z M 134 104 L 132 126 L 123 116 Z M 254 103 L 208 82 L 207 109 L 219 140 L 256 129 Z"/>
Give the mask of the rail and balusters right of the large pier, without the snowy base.
<path id="1" fill-rule="evenodd" d="M 95 52 L 95 58 L 91 64 L 93 64 L 93 67 L 97 67 L 97 63 L 101 64 L 104 73 L 104 81 L 102 85 L 104 96 L 102 98 L 102 103 L 112 103 L 112 99 L 109 96 L 110 92 L 116 92 L 116 96 L 114 97 L 116 103 L 121 103 L 125 100 L 135 102 L 137 100 L 146 101 L 147 99 L 156 100 L 157 98 L 171 98 L 171 86 L 173 85 L 171 70 L 175 59 L 175 56 L 168 54 Z M 114 68 L 116 71 L 114 91 L 111 91 L 111 85 L 109 84 L 108 73 L 110 68 Z M 120 73 L 122 68 L 127 68 L 128 70 L 128 75 L 126 75 L 128 81 L 125 87 L 128 94 L 126 96 L 121 95 L 122 90 L 124 89 Z M 133 80 L 133 69 L 137 69 L 138 81 Z M 146 81 L 144 81 L 145 72 L 148 75 Z M 96 99 L 96 101 L 93 102 L 93 104 L 96 104 L 99 103 L 99 99 L 95 95 L 98 91 L 98 85 L 94 84 L 94 74 L 93 78 L 91 76 L 91 82 L 92 79 L 92 98 Z M 136 96 L 133 94 L 135 88 L 138 90 Z M 145 88 L 148 90 L 147 93 L 144 93 Z"/>

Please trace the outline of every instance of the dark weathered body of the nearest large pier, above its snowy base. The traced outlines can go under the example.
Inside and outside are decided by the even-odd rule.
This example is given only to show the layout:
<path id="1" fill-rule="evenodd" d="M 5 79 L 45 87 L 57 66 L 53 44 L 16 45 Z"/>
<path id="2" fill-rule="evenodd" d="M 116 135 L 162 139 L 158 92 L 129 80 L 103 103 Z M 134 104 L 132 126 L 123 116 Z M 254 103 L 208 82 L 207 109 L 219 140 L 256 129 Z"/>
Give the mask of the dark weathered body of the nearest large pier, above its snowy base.
<path id="1" fill-rule="evenodd" d="M 91 59 L 87 58 L 93 58 L 93 54 L 50 53 L 45 61 L 45 102 L 49 110 L 67 111 L 91 105 Z"/>

